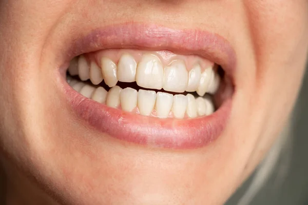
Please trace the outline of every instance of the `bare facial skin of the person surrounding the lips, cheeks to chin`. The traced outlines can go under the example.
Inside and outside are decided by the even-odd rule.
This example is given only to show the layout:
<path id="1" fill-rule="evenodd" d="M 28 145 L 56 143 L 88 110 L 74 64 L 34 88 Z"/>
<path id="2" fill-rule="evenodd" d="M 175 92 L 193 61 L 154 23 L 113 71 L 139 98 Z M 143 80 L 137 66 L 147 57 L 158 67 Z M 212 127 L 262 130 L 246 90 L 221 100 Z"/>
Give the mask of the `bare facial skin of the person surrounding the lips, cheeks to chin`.
<path id="1" fill-rule="evenodd" d="M 217 140 L 153 149 L 110 138 L 74 114 L 57 70 L 67 47 L 93 29 L 131 22 L 206 30 L 232 45 L 236 90 Z M 283 128 L 308 48 L 305 0 L 5 0 L 0 25 L 7 204 L 223 204 Z"/>

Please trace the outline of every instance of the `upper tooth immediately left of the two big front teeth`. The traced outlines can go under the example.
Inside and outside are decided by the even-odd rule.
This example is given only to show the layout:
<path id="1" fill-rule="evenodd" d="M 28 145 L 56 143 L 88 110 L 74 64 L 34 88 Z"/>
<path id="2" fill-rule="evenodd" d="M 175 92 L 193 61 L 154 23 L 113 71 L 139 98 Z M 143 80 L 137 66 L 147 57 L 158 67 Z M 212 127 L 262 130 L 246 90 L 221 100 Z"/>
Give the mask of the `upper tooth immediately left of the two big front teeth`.
<path id="1" fill-rule="evenodd" d="M 118 80 L 131 83 L 135 81 L 137 63 L 129 54 L 123 54 L 118 63 Z"/>

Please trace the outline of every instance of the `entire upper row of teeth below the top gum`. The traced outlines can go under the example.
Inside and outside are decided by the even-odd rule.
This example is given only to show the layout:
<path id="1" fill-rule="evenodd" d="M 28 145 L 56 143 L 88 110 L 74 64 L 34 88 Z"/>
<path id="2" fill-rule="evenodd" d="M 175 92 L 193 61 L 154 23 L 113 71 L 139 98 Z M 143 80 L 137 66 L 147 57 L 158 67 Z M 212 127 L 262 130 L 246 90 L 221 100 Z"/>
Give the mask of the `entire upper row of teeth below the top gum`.
<path id="1" fill-rule="evenodd" d="M 178 93 L 197 91 L 203 96 L 218 90 L 220 77 L 213 66 L 202 72 L 200 64 L 196 63 L 188 72 L 185 62 L 180 59 L 164 67 L 160 58 L 154 54 L 144 54 L 137 63 L 133 56 L 124 53 L 118 65 L 110 58 L 102 57 L 100 67 L 94 61 L 88 63 L 84 56 L 80 56 L 78 60 L 74 58 L 71 61 L 68 71 L 71 75 L 79 75 L 81 80 L 90 79 L 94 85 L 100 84 L 103 79 L 109 87 L 117 85 L 118 81 L 136 81 L 143 88 Z"/>

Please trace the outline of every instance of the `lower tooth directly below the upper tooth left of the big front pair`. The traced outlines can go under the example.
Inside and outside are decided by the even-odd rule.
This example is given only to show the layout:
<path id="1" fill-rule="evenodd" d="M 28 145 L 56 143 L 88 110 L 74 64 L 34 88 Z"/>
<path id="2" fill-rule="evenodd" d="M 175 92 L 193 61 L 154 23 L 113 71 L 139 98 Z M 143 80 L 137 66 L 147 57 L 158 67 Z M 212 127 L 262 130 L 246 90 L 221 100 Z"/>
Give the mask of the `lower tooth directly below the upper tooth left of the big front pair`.
<path id="1" fill-rule="evenodd" d="M 138 92 L 132 88 L 124 88 L 120 93 L 121 108 L 131 112 L 137 106 Z"/>

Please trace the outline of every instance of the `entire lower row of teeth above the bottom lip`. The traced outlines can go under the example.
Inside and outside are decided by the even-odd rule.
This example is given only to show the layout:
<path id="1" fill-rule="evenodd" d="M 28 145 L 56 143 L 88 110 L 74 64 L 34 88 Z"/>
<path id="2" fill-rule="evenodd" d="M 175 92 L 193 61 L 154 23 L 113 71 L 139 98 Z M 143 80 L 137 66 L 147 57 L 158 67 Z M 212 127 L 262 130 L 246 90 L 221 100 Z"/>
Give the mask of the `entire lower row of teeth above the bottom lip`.
<path id="1" fill-rule="evenodd" d="M 106 91 L 103 87 L 94 87 L 67 75 L 68 84 L 83 96 L 108 107 L 127 112 L 159 118 L 174 117 L 178 119 L 195 118 L 210 115 L 215 111 L 213 100 L 209 95 L 195 97 L 172 95 L 167 92 L 152 90 L 112 87 Z"/>

